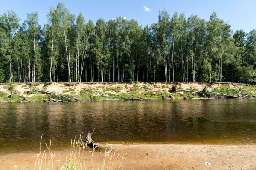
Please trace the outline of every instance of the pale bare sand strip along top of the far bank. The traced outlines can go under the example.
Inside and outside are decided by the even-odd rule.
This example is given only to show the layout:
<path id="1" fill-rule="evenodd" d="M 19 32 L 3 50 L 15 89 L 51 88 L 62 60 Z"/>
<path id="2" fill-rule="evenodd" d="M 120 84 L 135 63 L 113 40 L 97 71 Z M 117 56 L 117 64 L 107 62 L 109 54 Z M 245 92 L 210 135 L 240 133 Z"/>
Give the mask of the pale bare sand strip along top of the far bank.
<path id="1" fill-rule="evenodd" d="M 100 83 L 100 82 L 93 82 L 93 83 L 64 83 L 64 82 L 52 82 L 49 84 L 44 84 L 44 83 L 35 83 L 32 84 L 32 86 L 29 86 L 29 83 L 13 83 L 15 85 L 15 90 L 17 93 L 19 93 L 22 96 L 25 97 L 32 97 L 35 94 L 27 94 L 28 91 L 32 89 L 38 89 L 38 90 L 46 90 L 46 91 L 51 91 L 55 92 L 58 94 L 70 94 L 70 95 L 75 95 L 79 94 L 84 88 L 85 89 L 91 89 L 93 91 L 102 93 L 103 91 L 105 94 L 112 93 L 112 94 L 123 94 L 123 93 L 130 93 L 130 88 L 133 88 L 134 85 L 137 85 L 138 88 L 140 89 L 139 92 L 137 93 L 142 93 L 146 92 L 144 88 L 148 88 L 154 93 L 157 91 L 164 91 L 166 93 L 168 92 L 168 89 L 172 88 L 173 85 L 176 85 L 177 88 L 181 88 L 184 90 L 188 89 L 194 89 L 197 91 L 202 91 L 206 86 L 208 87 L 208 91 L 212 91 L 215 88 L 220 88 L 221 85 L 226 85 L 232 89 L 242 89 L 245 88 L 245 85 L 241 84 L 234 84 L 234 83 L 210 83 L 209 82 L 105 82 L 105 83 Z M 108 91 L 106 90 L 112 89 L 112 88 L 119 88 L 119 91 Z M 70 91 L 72 90 L 72 91 Z M 0 91 L 6 92 L 9 94 L 8 86 L 5 83 L 0 83 Z M 182 92 L 181 92 L 182 93 Z"/>

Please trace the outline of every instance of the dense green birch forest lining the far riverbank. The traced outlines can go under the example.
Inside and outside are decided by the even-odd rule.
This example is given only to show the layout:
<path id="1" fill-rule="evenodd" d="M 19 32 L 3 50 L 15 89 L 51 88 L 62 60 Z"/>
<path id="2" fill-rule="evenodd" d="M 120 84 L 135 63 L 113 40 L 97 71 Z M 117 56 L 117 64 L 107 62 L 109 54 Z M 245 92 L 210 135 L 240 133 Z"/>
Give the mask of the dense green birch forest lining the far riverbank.
<path id="1" fill-rule="evenodd" d="M 256 30 L 233 31 L 215 12 L 207 22 L 163 9 L 143 28 L 125 17 L 85 22 L 58 3 L 47 18 L 0 15 L 0 82 L 256 84 Z"/>

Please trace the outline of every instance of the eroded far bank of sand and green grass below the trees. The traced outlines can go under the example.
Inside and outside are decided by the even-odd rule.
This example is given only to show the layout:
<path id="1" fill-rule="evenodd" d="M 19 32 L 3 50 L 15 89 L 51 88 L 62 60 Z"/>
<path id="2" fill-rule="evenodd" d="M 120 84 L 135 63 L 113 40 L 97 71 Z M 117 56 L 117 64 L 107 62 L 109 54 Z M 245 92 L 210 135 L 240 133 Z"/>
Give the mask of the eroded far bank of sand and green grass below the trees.
<path id="1" fill-rule="evenodd" d="M 175 86 L 177 91 L 174 93 L 172 87 Z M 178 99 L 178 98 L 199 98 L 199 97 L 216 97 L 214 94 L 197 94 L 207 87 L 207 91 L 241 96 L 239 92 L 255 95 L 256 86 L 236 84 L 236 83 L 219 83 L 219 82 L 87 82 L 87 83 L 65 83 L 65 82 L 48 82 L 48 83 L 13 83 L 12 88 L 6 83 L 0 84 L 0 98 L 2 101 L 46 101 L 49 94 L 35 92 L 37 90 L 51 91 L 57 94 L 76 96 L 79 99 L 108 99 L 99 94 L 109 96 L 111 99 Z M 93 93 L 97 92 L 99 94 Z M 184 92 L 179 90 L 192 90 L 195 93 Z M 15 92 L 15 93 L 14 93 Z M 8 94 L 17 94 L 17 97 L 6 97 Z M 91 96 L 90 96 L 91 95 Z M 51 96 L 50 96 L 51 97 Z M 60 99 L 60 98 L 56 98 Z"/>

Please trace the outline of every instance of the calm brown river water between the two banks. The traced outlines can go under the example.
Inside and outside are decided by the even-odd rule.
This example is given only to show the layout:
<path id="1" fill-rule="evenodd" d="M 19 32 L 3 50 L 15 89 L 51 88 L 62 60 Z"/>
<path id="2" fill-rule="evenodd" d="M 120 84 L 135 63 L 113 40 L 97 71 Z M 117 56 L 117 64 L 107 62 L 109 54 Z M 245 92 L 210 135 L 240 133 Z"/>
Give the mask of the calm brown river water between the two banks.
<path id="1" fill-rule="evenodd" d="M 255 144 L 255 99 L 0 103 L 0 154 L 100 143 Z"/>

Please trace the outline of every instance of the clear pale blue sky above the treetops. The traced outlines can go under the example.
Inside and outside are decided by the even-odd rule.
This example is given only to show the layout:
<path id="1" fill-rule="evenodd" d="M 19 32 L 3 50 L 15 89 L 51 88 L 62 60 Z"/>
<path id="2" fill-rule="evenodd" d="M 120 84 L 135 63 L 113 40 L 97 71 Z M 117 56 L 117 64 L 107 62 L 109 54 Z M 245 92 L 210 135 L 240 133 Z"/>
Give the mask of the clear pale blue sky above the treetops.
<path id="1" fill-rule="evenodd" d="M 20 17 L 21 22 L 26 19 L 26 14 L 37 11 L 39 23 L 43 26 L 47 23 L 46 14 L 49 7 L 56 8 L 58 0 L 1 0 L 0 14 L 6 10 L 13 10 Z M 244 29 L 249 32 L 256 29 L 256 0 L 63 0 L 66 8 L 76 16 L 81 11 L 86 22 L 90 19 L 103 18 L 108 21 L 111 18 L 123 16 L 128 20 L 135 19 L 142 26 L 157 22 L 158 13 L 166 8 L 172 16 L 175 11 L 185 13 L 186 18 L 191 14 L 209 20 L 215 11 L 219 18 L 229 21 L 232 29 Z M 150 11 L 145 11 L 146 6 Z"/>

